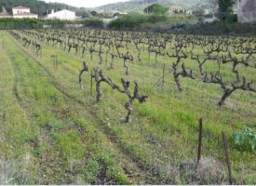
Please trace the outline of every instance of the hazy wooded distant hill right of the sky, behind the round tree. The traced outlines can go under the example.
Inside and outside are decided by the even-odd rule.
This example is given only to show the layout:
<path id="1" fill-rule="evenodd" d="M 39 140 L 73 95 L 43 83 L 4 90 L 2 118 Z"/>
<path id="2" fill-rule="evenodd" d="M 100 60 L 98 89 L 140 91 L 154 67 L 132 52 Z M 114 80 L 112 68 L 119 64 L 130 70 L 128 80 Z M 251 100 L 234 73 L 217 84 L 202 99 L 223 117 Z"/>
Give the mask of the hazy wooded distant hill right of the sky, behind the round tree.
<path id="1" fill-rule="evenodd" d="M 161 6 L 182 7 L 183 9 L 195 9 L 198 7 L 209 8 L 215 0 L 130 0 L 122 3 L 108 4 L 105 6 L 97 7 L 98 10 L 116 10 L 122 12 L 141 12 L 145 7 L 152 4 L 159 4 Z"/>

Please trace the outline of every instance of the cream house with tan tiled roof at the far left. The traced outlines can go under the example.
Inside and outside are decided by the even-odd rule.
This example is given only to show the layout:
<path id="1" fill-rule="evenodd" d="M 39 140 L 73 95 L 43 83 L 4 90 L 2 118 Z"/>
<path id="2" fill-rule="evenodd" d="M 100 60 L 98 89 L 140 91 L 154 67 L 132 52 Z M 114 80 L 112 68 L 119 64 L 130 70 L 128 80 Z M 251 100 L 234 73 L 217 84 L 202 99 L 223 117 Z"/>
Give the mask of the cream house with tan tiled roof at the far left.
<path id="1" fill-rule="evenodd" d="M 0 18 L 38 19 L 38 15 L 31 13 L 29 7 L 19 6 L 19 7 L 12 7 L 12 12 L 11 13 L 4 10 L 3 12 L 0 13 Z"/>

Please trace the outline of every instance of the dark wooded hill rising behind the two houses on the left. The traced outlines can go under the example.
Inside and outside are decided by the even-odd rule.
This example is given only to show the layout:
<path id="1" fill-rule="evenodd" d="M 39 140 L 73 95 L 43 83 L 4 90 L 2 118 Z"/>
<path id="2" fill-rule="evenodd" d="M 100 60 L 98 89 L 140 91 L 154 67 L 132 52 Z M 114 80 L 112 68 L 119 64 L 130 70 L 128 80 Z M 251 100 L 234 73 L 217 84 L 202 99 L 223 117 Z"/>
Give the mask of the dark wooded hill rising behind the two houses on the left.
<path id="1" fill-rule="evenodd" d="M 75 11 L 78 16 L 83 14 L 86 11 L 85 8 L 72 7 L 60 3 L 46 3 L 44 1 L 37 0 L 0 0 L 0 11 L 3 11 L 3 7 L 7 11 L 11 11 L 12 7 L 30 7 L 31 11 L 35 14 L 38 14 L 40 17 L 45 16 L 47 12 L 50 12 L 52 9 L 55 11 L 67 8 L 69 10 Z"/>

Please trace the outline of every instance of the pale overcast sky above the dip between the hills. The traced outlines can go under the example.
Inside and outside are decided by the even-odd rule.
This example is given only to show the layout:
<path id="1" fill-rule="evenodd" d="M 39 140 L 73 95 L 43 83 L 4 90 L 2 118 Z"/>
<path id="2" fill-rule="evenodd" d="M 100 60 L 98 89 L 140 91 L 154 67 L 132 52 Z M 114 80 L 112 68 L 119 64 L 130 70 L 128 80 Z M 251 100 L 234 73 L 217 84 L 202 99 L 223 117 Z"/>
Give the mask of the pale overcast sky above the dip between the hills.
<path id="1" fill-rule="evenodd" d="M 125 2 L 127 0 L 45 0 L 45 1 L 65 3 L 74 7 L 99 7 L 109 3 Z"/>

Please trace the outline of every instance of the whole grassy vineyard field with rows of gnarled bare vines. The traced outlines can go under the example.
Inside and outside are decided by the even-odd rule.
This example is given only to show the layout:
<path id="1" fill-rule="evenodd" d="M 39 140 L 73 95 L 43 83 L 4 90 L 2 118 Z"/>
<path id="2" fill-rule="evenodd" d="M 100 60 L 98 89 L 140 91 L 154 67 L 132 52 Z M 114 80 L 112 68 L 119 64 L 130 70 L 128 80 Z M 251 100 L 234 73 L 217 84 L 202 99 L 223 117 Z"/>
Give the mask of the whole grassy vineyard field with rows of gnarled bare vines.
<path id="1" fill-rule="evenodd" d="M 79 40 L 83 35 L 86 42 Z M 228 48 L 238 47 L 224 49 L 221 40 Z M 196 55 L 204 60 L 208 51 L 202 73 Z M 116 55 L 113 64 L 111 54 Z M 240 61 L 235 67 L 237 59 L 232 58 Z M 227 184 L 224 131 L 233 182 L 256 184 L 255 150 L 237 148 L 234 139 L 234 132 L 243 126 L 256 127 L 255 58 L 253 37 L 1 31 L 0 172 L 4 174 L 0 183 Z M 82 61 L 88 71 L 79 85 Z M 122 77 L 129 81 L 130 94 L 136 81 L 140 96 L 148 96 L 145 102 L 132 102 L 129 121 L 124 107 L 127 94 L 103 81 L 97 101 L 96 67 L 120 87 Z M 174 78 L 178 73 L 181 90 Z M 224 102 L 220 100 L 227 89 L 222 85 L 236 86 Z M 203 118 L 202 158 L 196 166 L 199 118 Z"/>

